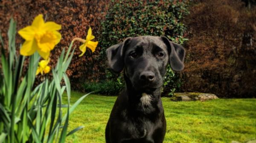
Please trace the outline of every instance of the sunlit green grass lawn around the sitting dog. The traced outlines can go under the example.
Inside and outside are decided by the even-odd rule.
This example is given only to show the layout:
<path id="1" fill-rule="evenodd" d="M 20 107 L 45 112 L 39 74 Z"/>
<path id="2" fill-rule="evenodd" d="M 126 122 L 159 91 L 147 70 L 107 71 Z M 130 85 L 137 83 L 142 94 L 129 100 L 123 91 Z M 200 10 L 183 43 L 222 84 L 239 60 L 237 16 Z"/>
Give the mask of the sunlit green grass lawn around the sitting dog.
<path id="1" fill-rule="evenodd" d="M 71 103 L 83 94 L 72 92 Z M 64 97 L 64 100 L 67 99 Z M 104 143 L 105 125 L 116 97 L 91 94 L 70 116 L 68 143 Z M 173 102 L 163 97 L 167 132 L 164 143 L 230 143 L 256 138 L 256 99 Z"/>

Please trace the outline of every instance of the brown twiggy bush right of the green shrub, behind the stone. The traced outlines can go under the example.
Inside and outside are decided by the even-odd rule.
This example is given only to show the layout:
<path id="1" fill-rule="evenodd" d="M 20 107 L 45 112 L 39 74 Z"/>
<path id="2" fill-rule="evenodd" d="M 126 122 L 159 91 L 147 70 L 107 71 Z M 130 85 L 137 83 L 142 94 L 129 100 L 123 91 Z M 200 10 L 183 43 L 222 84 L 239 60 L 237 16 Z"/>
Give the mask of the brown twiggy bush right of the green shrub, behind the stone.
<path id="1" fill-rule="evenodd" d="M 184 23 L 183 90 L 255 97 L 256 8 L 239 0 L 198 0 Z"/>

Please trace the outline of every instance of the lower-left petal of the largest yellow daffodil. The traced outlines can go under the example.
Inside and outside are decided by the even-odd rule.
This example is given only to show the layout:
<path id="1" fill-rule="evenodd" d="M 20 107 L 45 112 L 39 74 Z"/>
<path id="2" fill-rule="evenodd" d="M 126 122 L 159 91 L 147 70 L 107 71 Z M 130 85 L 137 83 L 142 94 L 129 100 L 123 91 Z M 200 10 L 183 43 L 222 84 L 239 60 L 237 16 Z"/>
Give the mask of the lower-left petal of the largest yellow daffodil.
<path id="1" fill-rule="evenodd" d="M 25 41 L 20 48 L 20 54 L 23 56 L 29 56 L 35 53 L 37 44 L 35 40 Z"/>

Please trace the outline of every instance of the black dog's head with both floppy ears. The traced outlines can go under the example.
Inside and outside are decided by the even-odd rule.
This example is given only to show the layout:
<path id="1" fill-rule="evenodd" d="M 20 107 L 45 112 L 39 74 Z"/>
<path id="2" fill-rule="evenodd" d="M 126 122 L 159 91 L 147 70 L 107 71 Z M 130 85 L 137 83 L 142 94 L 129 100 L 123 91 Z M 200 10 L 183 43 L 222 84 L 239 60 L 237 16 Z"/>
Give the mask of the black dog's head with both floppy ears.
<path id="1" fill-rule="evenodd" d="M 106 52 L 110 68 L 116 73 L 124 69 L 125 76 L 138 91 L 160 88 L 168 63 L 175 71 L 184 68 L 185 50 L 166 37 L 128 37 Z"/>

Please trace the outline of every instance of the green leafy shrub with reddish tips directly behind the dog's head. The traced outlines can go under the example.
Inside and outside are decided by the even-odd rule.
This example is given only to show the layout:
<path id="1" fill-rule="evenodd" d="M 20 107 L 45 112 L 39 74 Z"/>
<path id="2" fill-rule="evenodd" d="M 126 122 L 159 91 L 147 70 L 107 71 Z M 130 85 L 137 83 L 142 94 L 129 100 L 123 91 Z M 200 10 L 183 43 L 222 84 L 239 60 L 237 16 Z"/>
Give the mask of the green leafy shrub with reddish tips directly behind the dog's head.
<path id="1" fill-rule="evenodd" d="M 122 42 L 126 37 L 164 35 L 182 44 L 187 40 L 184 38 L 186 28 L 182 23 L 183 17 L 189 13 L 187 5 L 188 0 L 117 0 L 111 3 L 106 20 L 102 22 L 102 58 L 105 57 L 108 47 Z M 168 88 L 172 84 L 173 87 L 180 86 L 181 82 L 173 80 L 173 77 L 178 79 L 179 75 L 168 71 L 164 87 Z M 106 74 L 107 78 L 114 77 L 108 71 Z"/>

